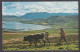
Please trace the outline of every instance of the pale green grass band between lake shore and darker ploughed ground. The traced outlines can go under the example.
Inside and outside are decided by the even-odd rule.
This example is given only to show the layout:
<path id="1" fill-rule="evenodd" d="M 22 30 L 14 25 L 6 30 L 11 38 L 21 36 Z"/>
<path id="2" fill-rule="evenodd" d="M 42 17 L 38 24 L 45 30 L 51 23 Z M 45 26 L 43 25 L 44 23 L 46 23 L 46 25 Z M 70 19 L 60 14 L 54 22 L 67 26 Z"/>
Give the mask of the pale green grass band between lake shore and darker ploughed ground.
<path id="1" fill-rule="evenodd" d="M 54 37 L 55 36 L 57 36 L 57 37 L 60 36 L 60 34 L 59 34 L 60 30 L 59 29 L 49 28 L 49 29 L 45 29 L 45 30 L 15 32 L 15 33 L 22 33 L 22 34 L 19 34 L 19 35 L 4 34 L 4 33 L 7 33 L 7 32 L 3 32 L 2 38 L 3 38 L 3 40 L 10 40 L 10 39 L 13 39 L 13 38 L 23 38 L 24 36 L 29 35 L 29 34 L 41 33 L 41 32 L 46 32 L 46 31 L 49 32 L 49 36 L 54 36 Z M 75 34 L 75 33 L 78 34 L 78 29 L 65 29 L 65 31 L 66 31 L 66 35 Z M 11 32 L 8 32 L 8 33 L 11 33 Z"/>

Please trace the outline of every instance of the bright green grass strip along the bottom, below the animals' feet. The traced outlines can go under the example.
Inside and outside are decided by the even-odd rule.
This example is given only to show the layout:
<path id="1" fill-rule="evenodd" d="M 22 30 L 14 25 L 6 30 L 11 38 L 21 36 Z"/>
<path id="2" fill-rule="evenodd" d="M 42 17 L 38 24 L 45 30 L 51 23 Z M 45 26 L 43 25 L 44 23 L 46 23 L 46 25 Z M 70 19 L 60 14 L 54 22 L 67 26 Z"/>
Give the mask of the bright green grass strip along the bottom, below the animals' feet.
<path id="1" fill-rule="evenodd" d="M 51 43 L 51 45 L 47 45 L 45 47 L 41 47 L 38 44 L 38 47 L 34 47 L 34 45 L 32 45 L 30 48 L 28 46 L 28 44 L 8 44 L 8 45 L 3 45 L 3 50 L 4 51 L 47 51 L 47 50 L 79 50 L 79 45 L 76 45 L 76 43 L 78 44 L 77 41 L 75 41 L 75 43 L 71 43 L 71 44 L 66 44 L 66 45 L 56 45 L 56 43 Z"/>

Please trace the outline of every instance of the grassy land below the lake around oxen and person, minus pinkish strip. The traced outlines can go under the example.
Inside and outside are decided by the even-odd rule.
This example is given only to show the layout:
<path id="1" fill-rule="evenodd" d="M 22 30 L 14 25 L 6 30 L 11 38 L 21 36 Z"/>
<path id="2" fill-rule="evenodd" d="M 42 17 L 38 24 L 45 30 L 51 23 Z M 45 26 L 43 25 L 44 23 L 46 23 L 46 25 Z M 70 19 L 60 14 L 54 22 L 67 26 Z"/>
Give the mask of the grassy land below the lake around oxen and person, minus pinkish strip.
<path id="1" fill-rule="evenodd" d="M 49 38 L 51 45 L 49 46 L 48 43 L 46 46 L 41 46 L 39 43 L 37 44 L 38 47 L 34 47 L 34 44 L 29 48 L 29 43 L 27 41 L 23 41 L 23 37 L 29 34 L 34 33 L 41 33 L 47 31 L 49 32 Z M 62 42 L 62 45 L 57 45 L 57 42 L 59 41 L 60 35 L 59 29 L 49 28 L 45 30 L 37 30 L 37 31 L 22 31 L 22 32 L 15 32 L 20 33 L 18 35 L 14 34 L 5 34 L 5 33 L 11 33 L 11 32 L 3 32 L 2 39 L 3 40 L 11 40 L 11 39 L 19 39 L 18 41 L 11 41 L 11 43 L 3 44 L 3 51 L 49 51 L 49 50 L 79 50 L 79 39 L 78 39 L 78 29 L 65 29 L 66 31 L 66 38 L 69 44 L 65 44 Z M 21 34 L 23 33 L 23 34 Z M 10 41 L 9 41 L 10 42 Z M 43 45 L 43 43 L 42 43 Z"/>

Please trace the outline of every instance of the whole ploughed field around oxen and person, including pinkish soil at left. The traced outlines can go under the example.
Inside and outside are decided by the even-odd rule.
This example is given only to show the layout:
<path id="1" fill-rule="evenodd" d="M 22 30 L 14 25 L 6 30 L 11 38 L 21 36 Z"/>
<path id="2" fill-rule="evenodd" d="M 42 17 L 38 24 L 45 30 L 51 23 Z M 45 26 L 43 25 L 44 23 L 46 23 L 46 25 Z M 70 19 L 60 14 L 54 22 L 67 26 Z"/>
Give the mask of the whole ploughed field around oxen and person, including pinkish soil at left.
<path id="1" fill-rule="evenodd" d="M 29 48 L 29 42 L 23 41 L 23 37 L 30 33 L 15 33 L 11 35 L 10 33 L 3 33 L 3 44 L 2 48 L 4 51 L 43 51 L 43 50 L 79 50 L 79 36 L 77 33 L 69 33 L 66 35 L 66 39 L 68 43 L 66 44 L 62 41 L 62 44 L 58 45 L 60 35 L 57 33 L 50 33 L 49 35 L 50 45 L 46 43 L 46 46 L 43 46 L 43 42 L 41 41 L 41 45 L 38 42 L 37 47 L 32 44 Z"/>

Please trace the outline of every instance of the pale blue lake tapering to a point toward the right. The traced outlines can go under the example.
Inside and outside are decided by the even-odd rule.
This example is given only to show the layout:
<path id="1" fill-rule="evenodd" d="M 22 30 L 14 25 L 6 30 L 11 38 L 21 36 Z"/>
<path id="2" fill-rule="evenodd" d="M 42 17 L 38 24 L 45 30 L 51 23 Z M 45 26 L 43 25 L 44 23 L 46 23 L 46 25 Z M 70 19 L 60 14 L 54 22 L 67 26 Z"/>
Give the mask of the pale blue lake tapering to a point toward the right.
<path id="1" fill-rule="evenodd" d="M 47 29 L 47 28 L 51 28 L 51 26 L 23 24 L 16 21 L 3 21 L 2 28 L 5 28 L 7 30 L 31 31 L 31 30 Z"/>

